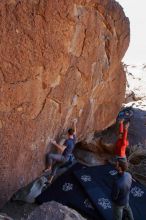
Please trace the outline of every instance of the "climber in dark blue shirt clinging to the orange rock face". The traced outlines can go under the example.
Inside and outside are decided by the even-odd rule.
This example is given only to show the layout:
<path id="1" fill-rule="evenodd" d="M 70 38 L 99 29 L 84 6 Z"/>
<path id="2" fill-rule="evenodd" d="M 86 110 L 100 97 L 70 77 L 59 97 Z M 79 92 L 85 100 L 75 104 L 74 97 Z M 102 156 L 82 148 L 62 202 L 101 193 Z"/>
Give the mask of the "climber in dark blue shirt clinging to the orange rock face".
<path id="1" fill-rule="evenodd" d="M 51 178 L 49 182 L 51 183 L 53 176 L 55 175 L 55 169 L 53 166 L 54 163 L 64 164 L 68 162 L 73 157 L 73 150 L 76 143 L 76 123 L 77 120 L 73 121 L 73 128 L 68 129 L 67 139 L 63 145 L 57 144 L 56 141 L 51 141 L 53 145 L 61 151 L 61 153 L 49 153 L 47 155 L 47 169 L 45 171 L 51 172 Z M 56 164 L 55 164 L 56 165 Z M 56 167 L 55 167 L 56 168 Z"/>

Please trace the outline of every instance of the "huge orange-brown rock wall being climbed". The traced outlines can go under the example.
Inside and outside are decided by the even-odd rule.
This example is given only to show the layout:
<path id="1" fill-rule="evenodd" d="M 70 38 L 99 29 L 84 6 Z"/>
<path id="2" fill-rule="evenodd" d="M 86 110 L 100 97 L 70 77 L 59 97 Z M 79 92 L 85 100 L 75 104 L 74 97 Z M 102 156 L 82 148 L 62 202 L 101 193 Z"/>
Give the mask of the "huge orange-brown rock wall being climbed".
<path id="1" fill-rule="evenodd" d="M 113 0 L 0 1 L 1 206 L 40 174 L 50 138 L 72 119 L 79 140 L 113 123 L 128 44 Z"/>

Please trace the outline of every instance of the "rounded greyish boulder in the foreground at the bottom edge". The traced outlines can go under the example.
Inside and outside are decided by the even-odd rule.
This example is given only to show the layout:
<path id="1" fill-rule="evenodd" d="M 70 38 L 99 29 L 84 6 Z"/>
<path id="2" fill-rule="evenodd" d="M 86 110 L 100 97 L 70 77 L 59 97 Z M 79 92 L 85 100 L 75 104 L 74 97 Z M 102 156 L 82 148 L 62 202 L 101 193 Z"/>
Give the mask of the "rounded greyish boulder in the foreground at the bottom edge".
<path id="1" fill-rule="evenodd" d="M 48 202 L 37 207 L 27 220 L 85 220 L 75 210 L 57 202 Z M 24 219 L 23 219 L 24 220 Z"/>

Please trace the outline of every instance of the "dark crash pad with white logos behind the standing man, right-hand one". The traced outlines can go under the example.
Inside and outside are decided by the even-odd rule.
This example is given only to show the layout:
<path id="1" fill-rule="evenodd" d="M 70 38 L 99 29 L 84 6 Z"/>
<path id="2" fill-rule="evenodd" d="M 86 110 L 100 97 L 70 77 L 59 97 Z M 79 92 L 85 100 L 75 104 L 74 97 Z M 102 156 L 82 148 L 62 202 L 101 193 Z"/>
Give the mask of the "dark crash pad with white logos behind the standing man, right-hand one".
<path id="1" fill-rule="evenodd" d="M 86 191 L 102 219 L 112 220 L 111 188 L 117 171 L 111 165 L 102 165 L 74 171 L 74 175 Z M 146 219 L 146 188 L 132 183 L 130 206 L 134 219 Z"/>

